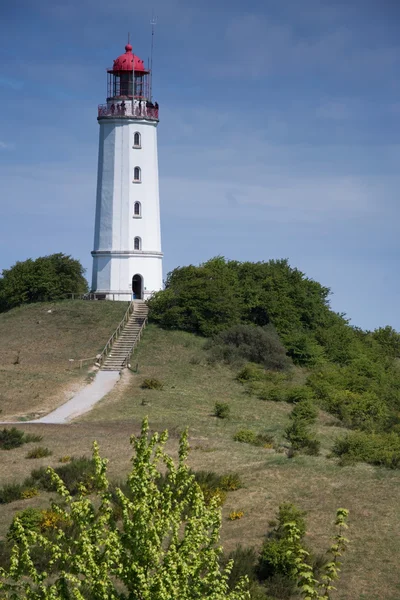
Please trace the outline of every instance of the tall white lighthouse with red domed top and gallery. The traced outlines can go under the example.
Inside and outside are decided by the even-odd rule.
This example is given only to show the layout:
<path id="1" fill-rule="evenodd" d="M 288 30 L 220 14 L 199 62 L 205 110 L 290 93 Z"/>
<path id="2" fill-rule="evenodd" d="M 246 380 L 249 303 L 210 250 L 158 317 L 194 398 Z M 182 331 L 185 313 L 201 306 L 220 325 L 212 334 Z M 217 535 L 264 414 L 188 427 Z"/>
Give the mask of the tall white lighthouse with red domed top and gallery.
<path id="1" fill-rule="evenodd" d="M 128 43 L 98 107 L 92 291 L 100 298 L 146 300 L 162 288 L 158 117 L 151 72 Z"/>

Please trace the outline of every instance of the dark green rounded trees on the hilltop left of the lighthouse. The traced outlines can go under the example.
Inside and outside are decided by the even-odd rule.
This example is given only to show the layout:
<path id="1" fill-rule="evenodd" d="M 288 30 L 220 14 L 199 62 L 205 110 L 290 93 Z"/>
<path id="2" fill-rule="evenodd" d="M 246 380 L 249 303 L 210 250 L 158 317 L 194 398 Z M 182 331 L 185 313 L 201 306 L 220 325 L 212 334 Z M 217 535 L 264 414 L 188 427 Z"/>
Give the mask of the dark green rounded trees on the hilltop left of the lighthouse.
<path id="1" fill-rule="evenodd" d="M 0 279 L 0 312 L 20 304 L 60 300 L 88 291 L 79 260 L 62 253 L 29 258 L 4 269 Z"/>

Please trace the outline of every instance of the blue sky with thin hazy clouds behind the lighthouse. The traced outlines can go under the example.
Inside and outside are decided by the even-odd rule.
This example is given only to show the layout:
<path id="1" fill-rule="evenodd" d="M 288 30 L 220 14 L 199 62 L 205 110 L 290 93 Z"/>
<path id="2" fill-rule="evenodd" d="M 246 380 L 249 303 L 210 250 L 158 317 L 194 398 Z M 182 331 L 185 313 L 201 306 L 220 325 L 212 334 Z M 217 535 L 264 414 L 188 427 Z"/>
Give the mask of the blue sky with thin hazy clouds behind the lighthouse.
<path id="1" fill-rule="evenodd" d="M 153 90 L 165 273 L 288 258 L 354 325 L 400 329 L 396 0 L 15 0 L 0 9 L 0 269 L 90 277 L 97 104 L 128 30 Z"/>

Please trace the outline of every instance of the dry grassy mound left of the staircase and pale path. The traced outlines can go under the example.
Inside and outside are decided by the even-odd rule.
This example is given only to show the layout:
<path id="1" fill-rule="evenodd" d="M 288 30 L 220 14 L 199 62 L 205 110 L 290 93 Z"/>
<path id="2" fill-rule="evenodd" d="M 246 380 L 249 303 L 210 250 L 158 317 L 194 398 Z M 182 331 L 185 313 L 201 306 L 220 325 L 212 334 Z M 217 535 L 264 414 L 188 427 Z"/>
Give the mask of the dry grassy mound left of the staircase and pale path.
<path id="1" fill-rule="evenodd" d="M 80 371 L 69 359 L 101 351 L 126 307 L 76 300 L 0 314 L 1 420 L 34 418 L 64 402 L 63 392 L 79 387 L 91 366 Z"/>

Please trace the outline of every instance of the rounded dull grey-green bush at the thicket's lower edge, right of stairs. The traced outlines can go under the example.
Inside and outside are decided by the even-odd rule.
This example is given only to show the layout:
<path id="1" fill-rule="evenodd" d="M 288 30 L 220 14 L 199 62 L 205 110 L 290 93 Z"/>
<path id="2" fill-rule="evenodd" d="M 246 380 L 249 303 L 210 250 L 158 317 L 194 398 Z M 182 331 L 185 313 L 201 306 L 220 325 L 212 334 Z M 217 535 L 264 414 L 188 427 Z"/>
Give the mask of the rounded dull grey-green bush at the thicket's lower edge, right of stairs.
<path id="1" fill-rule="evenodd" d="M 285 370 L 290 361 L 273 325 L 234 325 L 206 343 L 212 360 L 230 364 L 240 361 L 261 364 L 266 369 Z"/>

